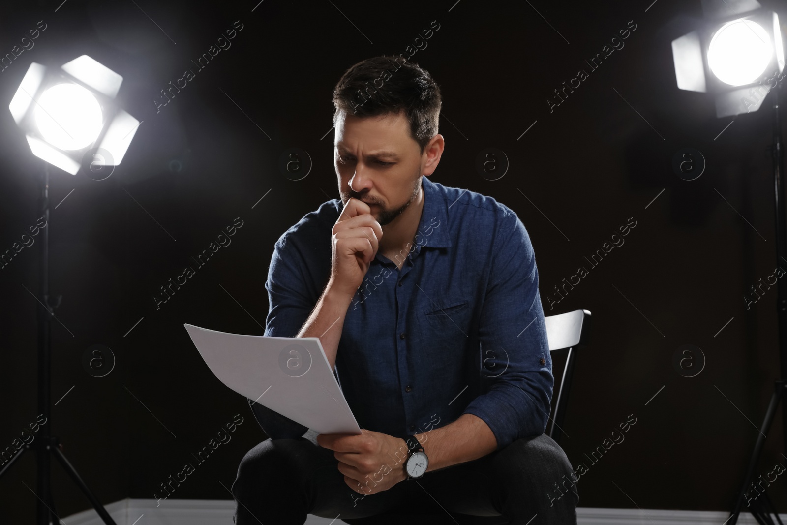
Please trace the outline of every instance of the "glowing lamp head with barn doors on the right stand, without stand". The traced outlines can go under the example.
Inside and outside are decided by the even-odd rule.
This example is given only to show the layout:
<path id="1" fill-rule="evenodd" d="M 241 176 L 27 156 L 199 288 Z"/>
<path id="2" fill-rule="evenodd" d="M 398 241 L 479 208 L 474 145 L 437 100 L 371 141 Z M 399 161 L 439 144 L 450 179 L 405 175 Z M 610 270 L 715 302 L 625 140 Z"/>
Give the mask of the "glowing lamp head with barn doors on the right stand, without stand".
<path id="1" fill-rule="evenodd" d="M 711 94 L 716 116 L 759 109 L 784 70 L 778 15 L 755 0 L 703 0 L 704 20 L 672 41 L 678 87 Z"/>

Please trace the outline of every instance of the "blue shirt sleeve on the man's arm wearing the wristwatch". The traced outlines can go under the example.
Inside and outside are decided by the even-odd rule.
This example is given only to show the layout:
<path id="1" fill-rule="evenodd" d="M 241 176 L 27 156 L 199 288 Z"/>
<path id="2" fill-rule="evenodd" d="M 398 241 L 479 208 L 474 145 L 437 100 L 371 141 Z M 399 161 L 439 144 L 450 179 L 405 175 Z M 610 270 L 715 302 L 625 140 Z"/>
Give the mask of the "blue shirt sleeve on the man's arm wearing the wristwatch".
<path id="1" fill-rule="evenodd" d="M 554 385 L 533 246 L 515 214 L 501 222 L 478 324 L 488 390 L 464 410 L 489 425 L 497 450 L 544 433 Z"/>

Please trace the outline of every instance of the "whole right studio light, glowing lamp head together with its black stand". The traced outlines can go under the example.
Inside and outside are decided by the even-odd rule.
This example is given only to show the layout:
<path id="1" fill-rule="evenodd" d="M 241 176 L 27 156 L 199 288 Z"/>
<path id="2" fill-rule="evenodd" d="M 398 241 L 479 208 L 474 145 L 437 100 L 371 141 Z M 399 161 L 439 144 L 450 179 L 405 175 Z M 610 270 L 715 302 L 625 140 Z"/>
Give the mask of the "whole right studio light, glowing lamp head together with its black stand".
<path id="1" fill-rule="evenodd" d="M 785 68 L 784 43 L 779 19 L 773 11 L 762 9 L 756 0 L 702 0 L 704 21 L 692 31 L 672 41 L 672 57 L 678 87 L 708 93 L 715 98 L 716 116 L 734 116 L 759 109 L 770 91 L 774 116 L 773 157 L 774 233 L 776 264 L 787 261 L 787 219 L 782 189 L 784 145 L 781 140 L 780 93 Z M 732 124 L 732 123 L 730 123 Z M 729 124 L 728 124 L 729 125 Z M 719 134 L 721 135 L 721 134 Z M 717 135 L 718 138 L 718 135 Z M 714 139 L 715 140 L 715 139 Z M 745 176 L 748 174 L 741 174 Z M 778 325 L 779 379 L 749 458 L 733 510 L 725 523 L 735 525 L 746 502 L 746 509 L 758 523 L 774 523 L 776 512 L 770 498 L 755 486 L 754 473 L 765 446 L 779 403 L 782 409 L 783 446 L 787 452 L 787 281 L 778 283 L 776 298 Z M 760 488 L 762 488 L 760 486 Z M 777 515 L 778 517 L 778 515 Z M 781 521 L 779 522 L 781 523 Z"/>

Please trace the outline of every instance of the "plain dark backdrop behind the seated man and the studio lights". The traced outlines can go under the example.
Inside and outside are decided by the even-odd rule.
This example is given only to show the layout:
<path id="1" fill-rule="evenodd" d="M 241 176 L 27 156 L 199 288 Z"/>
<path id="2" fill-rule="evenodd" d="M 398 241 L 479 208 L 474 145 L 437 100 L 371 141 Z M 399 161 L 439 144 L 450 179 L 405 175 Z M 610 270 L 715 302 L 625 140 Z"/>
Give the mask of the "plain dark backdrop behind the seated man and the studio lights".
<path id="1" fill-rule="evenodd" d="M 677 89 L 670 47 L 701 16 L 699 1 L 266 0 L 253 12 L 257 0 L 136 3 L 29 2 L 0 16 L 0 54 L 39 20 L 47 24 L 0 73 L 0 250 L 38 218 L 42 162 L 5 109 L 32 61 L 59 66 L 89 54 L 124 77 L 119 102 L 143 120 L 109 179 L 51 168 L 50 197 L 60 205 L 48 226 L 50 289 L 62 294 L 52 323 L 53 403 L 74 388 L 48 424 L 103 502 L 152 498 L 240 414 L 231 442 L 172 494 L 231 499 L 239 461 L 266 436 L 246 400 L 209 372 L 183 324 L 263 333 L 275 239 L 338 198 L 331 89 L 357 61 L 404 53 L 437 20 L 427 49 L 412 57 L 442 88 L 445 152 L 431 179 L 518 213 L 537 254 L 546 315 L 593 312 L 593 344 L 578 360 L 561 442 L 572 464 L 589 466 L 579 505 L 731 507 L 778 377 L 776 289 L 751 309 L 743 301 L 774 272 L 772 95 L 714 139 L 733 119 L 717 119 L 704 94 Z M 784 2 L 763 5 L 787 19 Z M 191 61 L 235 20 L 243 28 L 231 48 L 198 72 Z M 589 72 L 584 61 L 629 20 L 637 29 L 625 47 Z M 580 68 L 589 78 L 550 113 L 552 90 Z M 195 78 L 157 113 L 153 100 L 185 69 Z M 313 161 L 305 179 L 279 169 L 292 147 Z M 508 157 L 501 179 L 475 169 L 488 147 Z M 699 179 L 672 171 L 685 147 L 707 161 Z M 159 287 L 194 266 L 190 257 L 238 216 L 244 225 L 231 245 L 156 309 Z M 629 217 L 637 227 L 625 244 L 590 269 L 584 257 Z M 40 246 L 0 270 L 2 448 L 37 416 Z M 580 265 L 589 275 L 550 310 L 553 287 Z M 102 378 L 82 365 L 94 344 L 116 357 Z M 707 359 L 693 378 L 672 364 L 684 344 Z M 555 356 L 557 379 L 561 363 Z M 625 441 L 590 464 L 585 454 L 631 414 L 637 423 Z M 780 413 L 756 474 L 784 464 L 781 436 Z M 58 515 L 88 508 L 59 465 L 52 470 Z M 0 522 L 32 523 L 34 488 L 28 453 L 0 479 Z M 769 493 L 782 512 L 784 488 L 781 476 Z"/>

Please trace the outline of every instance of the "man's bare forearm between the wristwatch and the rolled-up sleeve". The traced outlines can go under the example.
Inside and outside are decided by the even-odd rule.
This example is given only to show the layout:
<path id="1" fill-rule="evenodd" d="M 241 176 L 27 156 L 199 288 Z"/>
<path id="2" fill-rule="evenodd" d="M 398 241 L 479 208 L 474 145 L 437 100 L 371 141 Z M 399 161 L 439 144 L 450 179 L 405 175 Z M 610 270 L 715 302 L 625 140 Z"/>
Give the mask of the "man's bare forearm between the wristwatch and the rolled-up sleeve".
<path id="1" fill-rule="evenodd" d="M 427 472 L 477 460 L 497 449 L 492 429 L 473 414 L 462 414 L 445 427 L 416 434 L 416 439 L 429 457 Z"/>

